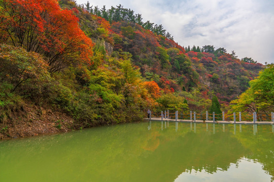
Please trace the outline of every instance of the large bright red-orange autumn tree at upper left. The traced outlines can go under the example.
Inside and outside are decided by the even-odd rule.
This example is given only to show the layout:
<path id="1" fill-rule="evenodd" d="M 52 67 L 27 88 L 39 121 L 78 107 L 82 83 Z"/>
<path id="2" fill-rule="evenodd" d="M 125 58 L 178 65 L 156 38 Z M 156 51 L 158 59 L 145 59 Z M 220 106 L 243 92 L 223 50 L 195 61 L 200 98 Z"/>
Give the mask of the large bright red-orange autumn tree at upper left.
<path id="1" fill-rule="evenodd" d="M 47 57 L 55 72 L 79 61 L 90 63 L 93 43 L 79 28 L 71 10 L 55 0 L 3 0 L 0 2 L 1 42 L 10 42 Z"/>

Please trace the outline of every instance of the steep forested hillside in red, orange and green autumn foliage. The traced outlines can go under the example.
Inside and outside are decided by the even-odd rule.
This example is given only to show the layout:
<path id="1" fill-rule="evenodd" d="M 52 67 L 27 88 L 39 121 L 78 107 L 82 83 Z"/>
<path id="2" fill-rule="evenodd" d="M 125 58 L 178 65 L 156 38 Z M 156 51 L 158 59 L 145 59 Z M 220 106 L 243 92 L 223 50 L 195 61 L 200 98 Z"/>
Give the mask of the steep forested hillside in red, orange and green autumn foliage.
<path id="1" fill-rule="evenodd" d="M 72 129 L 139 121 L 147 109 L 202 112 L 215 96 L 227 111 L 265 68 L 214 45 L 181 46 L 121 5 L 0 0 L 0 20 L 2 133 L 48 113 L 52 126 Z"/>

